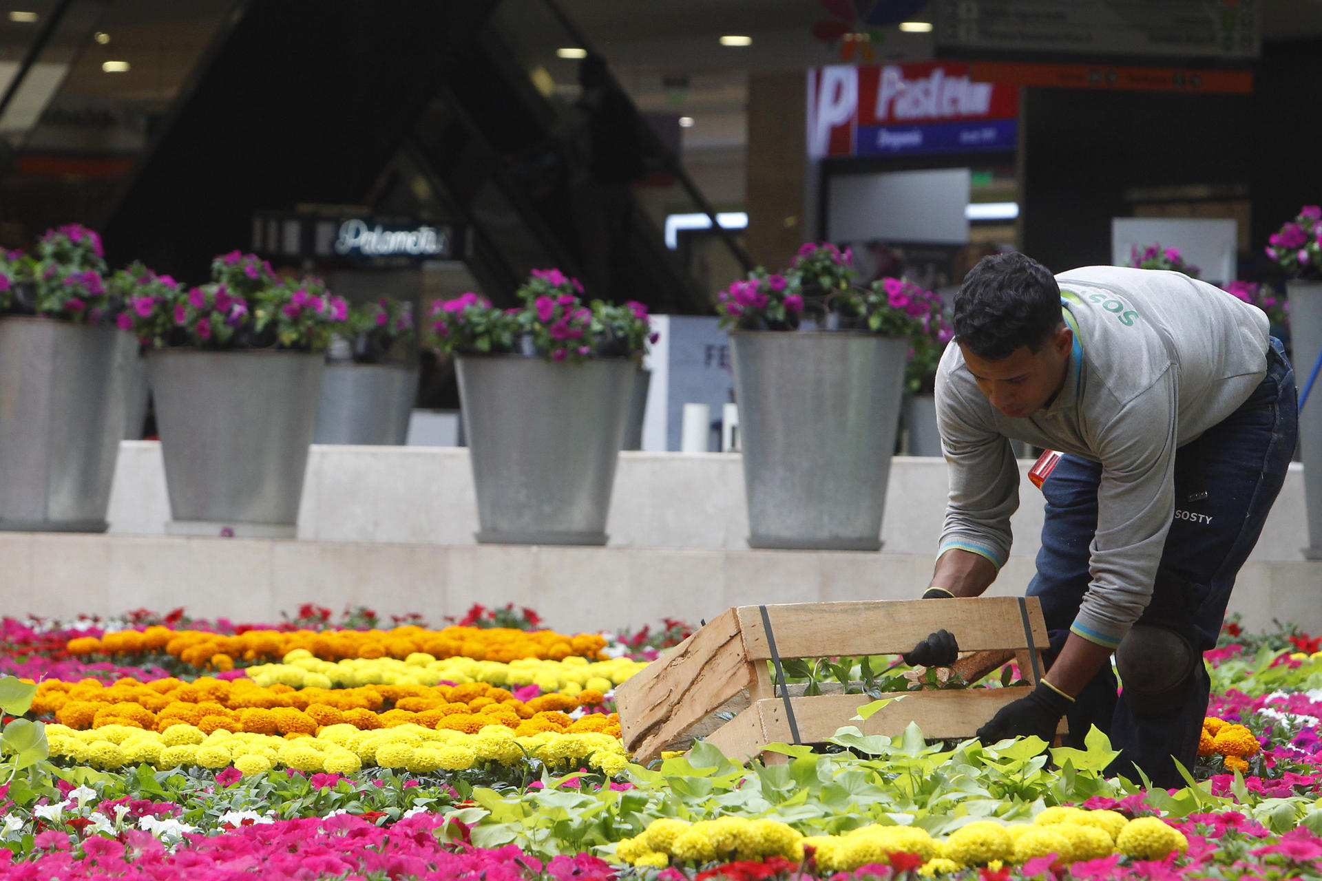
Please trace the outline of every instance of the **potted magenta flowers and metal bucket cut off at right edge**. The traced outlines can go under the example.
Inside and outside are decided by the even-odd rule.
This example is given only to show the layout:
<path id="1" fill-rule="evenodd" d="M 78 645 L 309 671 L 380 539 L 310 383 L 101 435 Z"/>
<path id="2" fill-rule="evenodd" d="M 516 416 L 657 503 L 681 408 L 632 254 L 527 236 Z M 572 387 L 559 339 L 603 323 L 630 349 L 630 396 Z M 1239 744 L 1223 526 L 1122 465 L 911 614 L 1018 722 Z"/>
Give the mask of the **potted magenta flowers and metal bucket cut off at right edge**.
<path id="1" fill-rule="evenodd" d="M 1300 448 L 1309 516 L 1306 557 L 1322 559 L 1322 407 L 1303 407 L 1317 394 L 1322 366 L 1322 207 L 1305 205 L 1268 239 L 1266 256 L 1285 275 L 1290 349 L 1300 380 Z"/>

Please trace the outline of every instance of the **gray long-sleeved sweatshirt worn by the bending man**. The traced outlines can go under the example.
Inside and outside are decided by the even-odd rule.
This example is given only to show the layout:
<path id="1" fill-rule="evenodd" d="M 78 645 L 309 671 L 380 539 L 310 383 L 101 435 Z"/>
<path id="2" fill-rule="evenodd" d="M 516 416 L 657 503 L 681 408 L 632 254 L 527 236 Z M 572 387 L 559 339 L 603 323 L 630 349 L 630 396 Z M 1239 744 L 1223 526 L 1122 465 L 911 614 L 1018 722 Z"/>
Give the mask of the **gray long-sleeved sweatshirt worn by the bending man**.
<path id="1" fill-rule="evenodd" d="M 1263 380 L 1268 321 L 1179 272 L 1084 267 L 1056 281 L 1075 347 L 1050 407 L 1010 419 L 978 391 L 958 345 L 941 358 L 936 415 L 951 495 L 937 556 L 964 548 L 1005 564 L 1019 506 L 1007 439 L 1101 462 L 1092 580 L 1071 630 L 1113 649 L 1151 597 L 1175 511 L 1175 449 Z"/>

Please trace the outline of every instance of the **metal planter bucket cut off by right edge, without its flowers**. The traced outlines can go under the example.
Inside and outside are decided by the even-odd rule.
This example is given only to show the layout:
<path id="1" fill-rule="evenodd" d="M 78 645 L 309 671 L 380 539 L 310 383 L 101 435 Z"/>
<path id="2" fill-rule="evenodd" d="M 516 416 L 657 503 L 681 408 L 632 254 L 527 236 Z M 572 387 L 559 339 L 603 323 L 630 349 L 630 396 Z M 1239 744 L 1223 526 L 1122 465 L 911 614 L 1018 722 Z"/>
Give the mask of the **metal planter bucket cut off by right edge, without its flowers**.
<path id="1" fill-rule="evenodd" d="M 1290 354 L 1300 392 L 1322 351 L 1322 281 L 1286 283 L 1290 300 Z M 1303 454 L 1303 503 L 1309 547 L 1303 556 L 1322 560 L 1322 383 L 1314 383 L 1300 409 L 1300 452 Z"/>

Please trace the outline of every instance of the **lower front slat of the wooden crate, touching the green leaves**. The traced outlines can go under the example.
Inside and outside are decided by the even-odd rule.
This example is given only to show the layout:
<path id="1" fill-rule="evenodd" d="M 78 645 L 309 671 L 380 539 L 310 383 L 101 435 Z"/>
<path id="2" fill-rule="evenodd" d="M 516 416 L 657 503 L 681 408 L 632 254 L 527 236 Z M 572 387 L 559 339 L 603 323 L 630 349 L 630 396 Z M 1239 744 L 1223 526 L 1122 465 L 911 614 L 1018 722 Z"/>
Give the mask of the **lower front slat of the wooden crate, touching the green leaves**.
<path id="1" fill-rule="evenodd" d="M 867 695 L 791 697 L 789 703 L 795 709 L 798 738 L 805 744 L 825 742 L 846 725 L 854 725 L 865 734 L 899 737 L 910 722 L 917 722 L 924 737 L 957 740 L 970 737 L 998 709 L 1031 691 L 1029 686 L 1011 686 L 899 692 L 895 696 L 900 700 L 887 704 L 866 721 L 853 717 L 859 707 L 873 703 Z M 785 719 L 785 704 L 779 697 L 755 701 L 709 734 L 706 741 L 736 762 L 758 757 L 767 744 L 791 744 L 793 737 Z"/>

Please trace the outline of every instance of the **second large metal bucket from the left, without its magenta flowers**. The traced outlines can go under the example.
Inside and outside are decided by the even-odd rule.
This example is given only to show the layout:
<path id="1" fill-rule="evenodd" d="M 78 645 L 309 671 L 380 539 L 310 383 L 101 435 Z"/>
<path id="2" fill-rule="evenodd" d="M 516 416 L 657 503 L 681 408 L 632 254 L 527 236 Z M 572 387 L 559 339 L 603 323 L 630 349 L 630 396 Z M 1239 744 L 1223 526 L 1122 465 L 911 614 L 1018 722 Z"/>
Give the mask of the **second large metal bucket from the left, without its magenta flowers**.
<path id="1" fill-rule="evenodd" d="M 169 532 L 293 535 L 323 362 L 300 351 L 147 355 Z"/>

